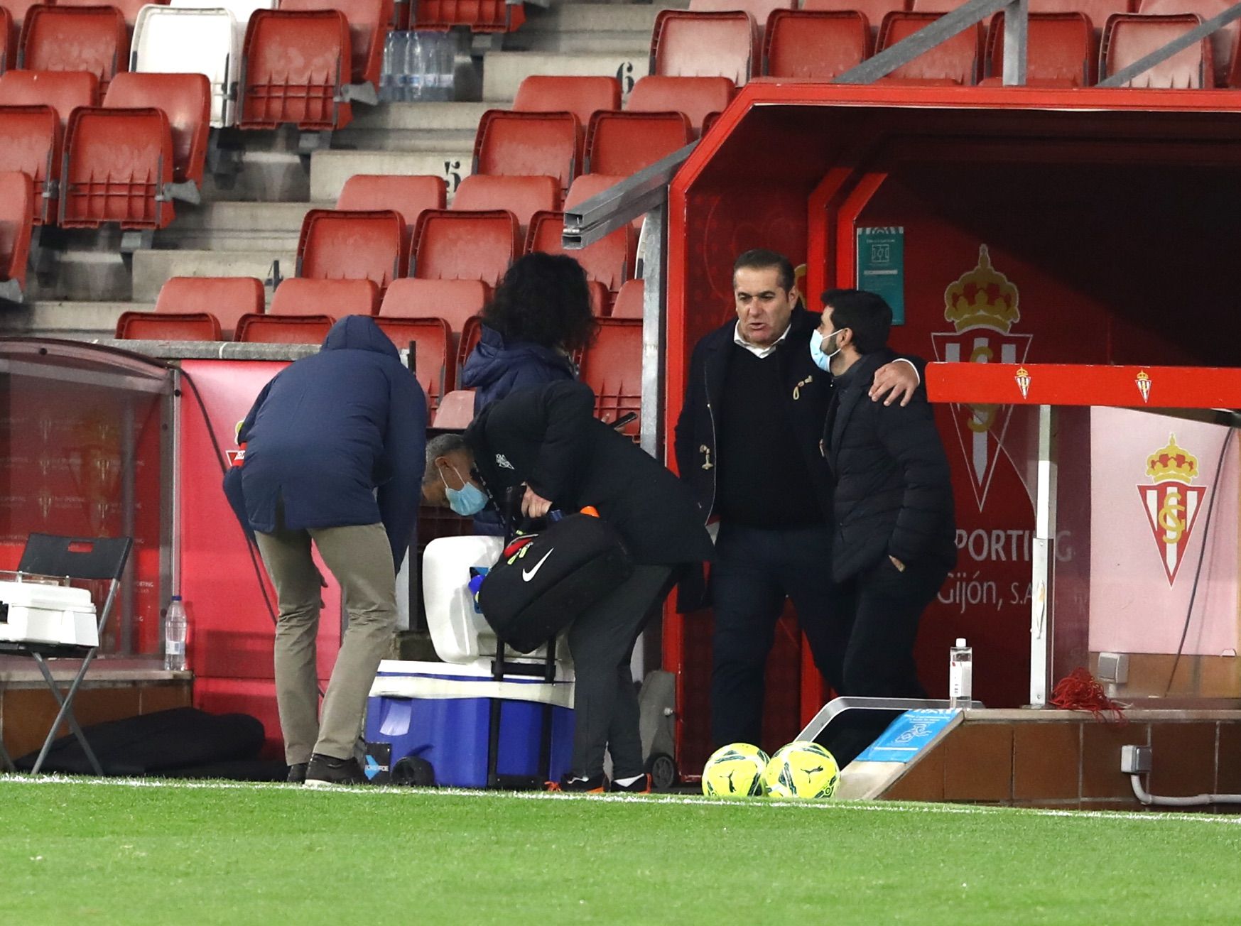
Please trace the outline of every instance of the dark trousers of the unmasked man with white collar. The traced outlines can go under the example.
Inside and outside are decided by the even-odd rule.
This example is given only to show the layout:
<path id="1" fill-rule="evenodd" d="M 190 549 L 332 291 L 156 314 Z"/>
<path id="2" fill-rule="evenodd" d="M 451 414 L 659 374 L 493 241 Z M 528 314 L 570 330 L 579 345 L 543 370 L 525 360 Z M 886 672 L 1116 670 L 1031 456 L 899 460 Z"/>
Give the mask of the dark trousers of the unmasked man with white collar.
<path id="1" fill-rule="evenodd" d="M 792 600 L 814 663 L 835 685 L 833 614 L 840 590 L 830 581 L 831 533 L 825 525 L 767 529 L 721 523 L 711 565 L 711 741 L 759 745 L 764 668 L 776 623 Z"/>

